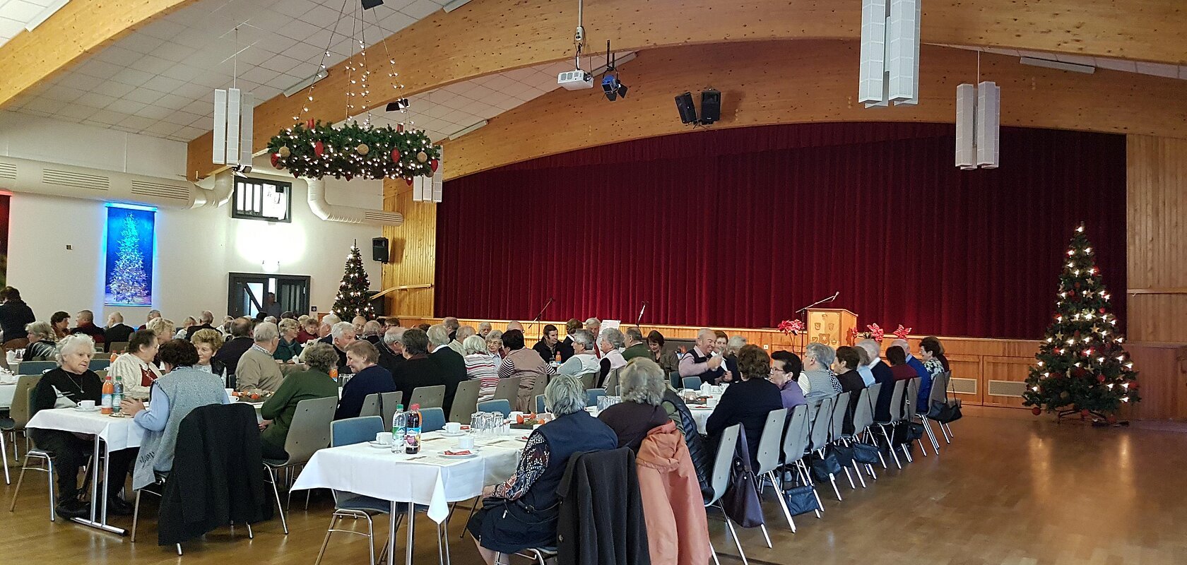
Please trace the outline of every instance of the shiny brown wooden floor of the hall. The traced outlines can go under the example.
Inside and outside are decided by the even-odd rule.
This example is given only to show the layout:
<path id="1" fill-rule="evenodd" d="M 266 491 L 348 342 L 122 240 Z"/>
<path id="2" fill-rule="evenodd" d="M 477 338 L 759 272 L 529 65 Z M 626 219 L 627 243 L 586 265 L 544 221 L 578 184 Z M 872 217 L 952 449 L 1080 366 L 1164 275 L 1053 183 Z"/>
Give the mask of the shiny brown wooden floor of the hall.
<path id="1" fill-rule="evenodd" d="M 944 446 L 939 458 L 919 457 L 916 450 L 915 463 L 902 471 L 880 469 L 869 489 L 853 491 L 846 482 L 844 502 L 821 489 L 824 519 L 798 518 L 796 534 L 787 529 L 774 499 L 768 500 L 775 548 L 766 547 L 757 529 L 745 531 L 747 557 L 758 564 L 813 565 L 1187 564 L 1187 433 L 992 414 L 966 417 L 953 428 L 956 443 Z M 147 507 L 150 519 L 137 544 L 50 522 L 44 477 L 26 476 L 15 513 L 6 512 L 12 487 L 0 489 L 5 563 L 312 564 L 331 507 L 328 495 L 315 495 L 306 512 L 301 496 L 288 518 L 290 535 L 281 533 L 279 521 L 258 525 L 254 540 L 242 529 L 234 538 L 216 531 L 186 544 L 178 559 L 172 548 L 155 544 L 154 507 Z M 452 563 L 477 564 L 472 541 L 458 539 L 464 513 L 456 518 Z M 715 518 L 710 527 L 722 561 L 737 563 L 729 558 L 736 553 L 732 540 Z M 385 531 L 386 520 L 376 526 Z M 418 521 L 418 564 L 437 561 L 432 531 L 427 519 Z M 363 538 L 336 534 L 324 563 L 366 565 L 364 544 Z"/>

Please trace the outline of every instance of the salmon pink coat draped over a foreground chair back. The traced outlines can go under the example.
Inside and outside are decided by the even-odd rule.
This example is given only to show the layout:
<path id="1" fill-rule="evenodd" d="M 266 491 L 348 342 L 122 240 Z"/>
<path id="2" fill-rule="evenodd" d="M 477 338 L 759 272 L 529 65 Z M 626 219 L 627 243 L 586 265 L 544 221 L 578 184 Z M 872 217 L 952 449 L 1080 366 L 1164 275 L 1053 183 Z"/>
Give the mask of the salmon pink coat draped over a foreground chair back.
<path id="1" fill-rule="evenodd" d="M 652 428 L 635 458 L 652 565 L 709 563 L 709 522 L 688 446 L 667 423 Z"/>

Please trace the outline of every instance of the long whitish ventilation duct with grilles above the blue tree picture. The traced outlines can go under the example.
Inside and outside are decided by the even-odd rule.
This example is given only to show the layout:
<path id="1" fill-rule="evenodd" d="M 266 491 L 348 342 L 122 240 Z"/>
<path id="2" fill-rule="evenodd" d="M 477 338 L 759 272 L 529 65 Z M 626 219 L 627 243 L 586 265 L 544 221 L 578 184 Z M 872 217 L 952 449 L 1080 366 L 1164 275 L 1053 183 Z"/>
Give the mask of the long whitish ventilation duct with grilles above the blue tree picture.
<path id="1" fill-rule="evenodd" d="M 223 196 L 220 192 L 222 186 L 217 182 L 211 182 L 214 190 L 201 190 L 192 183 L 180 179 L 103 171 L 17 157 L 0 157 L 0 188 L 13 192 L 102 202 L 129 202 L 173 209 L 222 205 L 230 199 L 229 183 Z"/>

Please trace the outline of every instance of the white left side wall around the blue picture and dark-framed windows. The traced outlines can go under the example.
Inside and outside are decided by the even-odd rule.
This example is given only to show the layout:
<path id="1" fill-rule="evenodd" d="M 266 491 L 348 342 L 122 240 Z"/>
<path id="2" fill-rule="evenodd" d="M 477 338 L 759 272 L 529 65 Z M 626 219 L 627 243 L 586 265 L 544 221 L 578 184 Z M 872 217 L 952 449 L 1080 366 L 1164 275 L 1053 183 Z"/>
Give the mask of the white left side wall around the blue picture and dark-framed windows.
<path id="1" fill-rule="evenodd" d="M 183 176 L 185 145 L 90 126 L 0 114 L 0 152 L 113 171 Z M 266 159 L 256 166 L 267 167 Z M 264 169 L 258 169 L 264 171 Z M 279 172 L 272 170 L 272 172 Z M 358 242 L 372 288 L 380 284 L 380 264 L 370 260 L 377 226 L 325 222 L 306 203 L 304 182 L 293 182 L 292 223 L 233 220 L 230 208 L 158 209 L 153 305 L 177 323 L 186 316 L 227 310 L 227 273 L 311 277 L 311 305 L 334 304 L 351 242 Z M 328 179 L 334 204 L 381 208 L 380 182 Z M 57 310 L 89 309 L 106 317 L 119 310 L 142 323 L 150 307 L 103 306 L 103 230 L 107 216 L 99 201 L 15 193 L 8 223 L 8 284 L 20 288 L 38 319 Z M 66 249 L 71 246 L 71 249 Z M 261 262 L 279 261 L 279 268 Z"/>

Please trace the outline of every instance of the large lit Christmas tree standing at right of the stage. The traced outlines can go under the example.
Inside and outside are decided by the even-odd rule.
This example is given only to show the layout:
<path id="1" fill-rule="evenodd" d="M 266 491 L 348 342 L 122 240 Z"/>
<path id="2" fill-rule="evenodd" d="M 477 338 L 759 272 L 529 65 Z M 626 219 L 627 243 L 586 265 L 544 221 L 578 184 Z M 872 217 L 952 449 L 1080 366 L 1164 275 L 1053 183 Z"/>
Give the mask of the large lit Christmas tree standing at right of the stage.
<path id="1" fill-rule="evenodd" d="M 1035 415 L 1046 410 L 1060 418 L 1079 413 L 1115 423 L 1123 402 L 1140 400 L 1137 373 L 1122 347 L 1125 338 L 1117 332 L 1093 256 L 1080 224 L 1059 275 L 1055 319 L 1022 394 Z"/>

